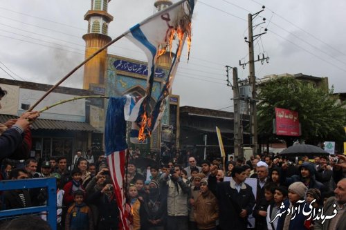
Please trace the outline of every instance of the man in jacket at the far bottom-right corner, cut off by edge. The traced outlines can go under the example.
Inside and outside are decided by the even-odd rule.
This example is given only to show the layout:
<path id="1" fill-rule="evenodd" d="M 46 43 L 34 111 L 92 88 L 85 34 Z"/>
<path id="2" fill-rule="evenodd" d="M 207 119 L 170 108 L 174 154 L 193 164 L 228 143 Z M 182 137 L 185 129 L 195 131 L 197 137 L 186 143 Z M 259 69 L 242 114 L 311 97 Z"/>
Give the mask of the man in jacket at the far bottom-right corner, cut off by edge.
<path id="1" fill-rule="evenodd" d="M 334 211 L 338 211 L 334 218 L 318 220 L 314 225 L 315 230 L 344 230 L 346 229 L 346 178 L 340 180 L 334 190 L 335 197 L 331 197 L 325 203 L 324 215 L 333 216 Z"/>

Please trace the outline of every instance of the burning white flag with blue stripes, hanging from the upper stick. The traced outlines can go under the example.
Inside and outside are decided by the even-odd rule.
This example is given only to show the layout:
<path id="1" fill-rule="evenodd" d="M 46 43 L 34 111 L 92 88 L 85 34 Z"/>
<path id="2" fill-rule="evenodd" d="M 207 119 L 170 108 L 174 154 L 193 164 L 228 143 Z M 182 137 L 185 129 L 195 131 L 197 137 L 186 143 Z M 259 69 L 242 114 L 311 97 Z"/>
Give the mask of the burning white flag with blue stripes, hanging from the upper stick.
<path id="1" fill-rule="evenodd" d="M 181 50 L 185 39 L 191 41 L 191 19 L 194 4 L 197 0 L 182 0 L 169 8 L 156 13 L 146 23 L 140 23 L 130 29 L 126 37 L 140 47 L 147 56 L 148 75 L 145 96 L 137 102 L 136 113 L 132 113 L 129 121 L 136 122 L 138 126 L 138 140 L 143 141 L 151 135 L 161 119 L 165 108 L 166 98 L 170 94 L 176 68 L 179 64 Z M 167 48 L 172 50 L 174 39 L 178 39 L 173 64 L 165 79 L 163 90 L 158 97 L 154 110 L 150 111 L 149 103 L 152 97 L 156 61 Z M 190 45 L 189 45 L 190 47 Z M 137 113 L 138 112 L 138 113 Z M 134 131 L 136 133 L 137 131 Z"/>

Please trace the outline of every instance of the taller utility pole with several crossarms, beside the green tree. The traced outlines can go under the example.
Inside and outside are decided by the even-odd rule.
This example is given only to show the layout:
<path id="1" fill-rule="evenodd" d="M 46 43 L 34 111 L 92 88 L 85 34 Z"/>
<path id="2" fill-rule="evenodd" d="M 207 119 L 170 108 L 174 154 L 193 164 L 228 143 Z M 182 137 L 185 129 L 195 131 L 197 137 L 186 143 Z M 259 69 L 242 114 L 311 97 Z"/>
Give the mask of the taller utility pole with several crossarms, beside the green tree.
<path id="1" fill-rule="evenodd" d="M 262 6 L 263 10 L 264 10 L 264 6 Z M 256 76 L 255 76 L 255 62 L 256 61 L 261 61 L 262 64 L 264 63 L 264 60 L 266 60 L 268 62 L 268 57 L 263 57 L 260 59 L 260 56 L 258 56 L 258 59 L 255 60 L 255 53 L 254 53 L 254 43 L 253 41 L 255 41 L 255 39 L 257 39 L 258 37 L 260 37 L 261 35 L 266 34 L 266 32 L 262 32 L 258 35 L 253 35 L 253 28 L 259 26 L 262 23 L 265 23 L 266 19 L 264 18 L 262 23 L 257 24 L 255 26 L 253 26 L 253 19 L 255 19 L 255 17 L 257 15 L 260 14 L 260 12 L 262 12 L 263 10 L 260 10 L 259 12 L 255 13 L 254 15 L 252 14 L 248 14 L 248 38 L 245 37 L 245 41 L 248 43 L 248 64 L 249 64 L 249 76 L 248 76 L 248 80 L 251 86 L 251 99 L 250 99 L 250 126 L 251 126 L 251 146 L 253 148 L 253 155 L 257 154 L 257 92 L 256 92 Z M 264 31 L 267 31 L 267 29 L 265 29 Z M 248 39 L 248 41 L 247 41 Z M 241 64 L 239 61 L 239 64 L 241 66 L 244 66 L 246 64 Z"/>

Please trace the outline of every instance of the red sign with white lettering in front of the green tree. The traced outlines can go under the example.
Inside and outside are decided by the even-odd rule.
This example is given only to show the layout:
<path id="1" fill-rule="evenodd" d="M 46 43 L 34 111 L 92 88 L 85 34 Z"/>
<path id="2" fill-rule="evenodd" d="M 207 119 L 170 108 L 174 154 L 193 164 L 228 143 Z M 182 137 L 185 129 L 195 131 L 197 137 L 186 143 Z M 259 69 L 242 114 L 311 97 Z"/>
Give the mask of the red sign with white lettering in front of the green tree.
<path id="1" fill-rule="evenodd" d="M 284 108 L 275 108 L 276 135 L 295 136 L 299 133 L 298 112 Z"/>

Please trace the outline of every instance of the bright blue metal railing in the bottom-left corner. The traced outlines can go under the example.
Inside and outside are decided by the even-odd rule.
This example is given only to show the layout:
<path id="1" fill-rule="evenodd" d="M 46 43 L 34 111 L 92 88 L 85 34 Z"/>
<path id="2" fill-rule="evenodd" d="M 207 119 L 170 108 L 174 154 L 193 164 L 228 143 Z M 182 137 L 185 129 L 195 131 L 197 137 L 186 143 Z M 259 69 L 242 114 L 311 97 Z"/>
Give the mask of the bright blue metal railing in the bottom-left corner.
<path id="1" fill-rule="evenodd" d="M 6 218 L 15 215 L 23 215 L 27 213 L 47 213 L 47 222 L 51 225 L 52 230 L 57 229 L 57 183 L 55 178 L 37 178 L 26 180 L 1 180 L 0 191 L 14 189 L 33 189 L 47 188 L 48 200 L 47 204 L 38 207 L 28 207 L 24 209 L 10 209 L 0 211 L 0 218 Z"/>

